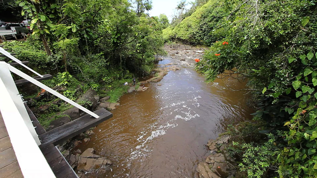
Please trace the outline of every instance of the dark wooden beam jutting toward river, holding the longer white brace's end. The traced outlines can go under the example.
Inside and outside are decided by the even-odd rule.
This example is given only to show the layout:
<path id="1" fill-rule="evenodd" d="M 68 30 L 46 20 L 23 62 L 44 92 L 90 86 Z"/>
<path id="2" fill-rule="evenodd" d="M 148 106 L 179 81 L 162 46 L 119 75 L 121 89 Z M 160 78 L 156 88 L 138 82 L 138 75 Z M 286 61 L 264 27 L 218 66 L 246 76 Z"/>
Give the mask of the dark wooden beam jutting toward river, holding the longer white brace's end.
<path id="1" fill-rule="evenodd" d="M 67 124 L 61 125 L 53 130 L 49 130 L 46 133 L 39 135 L 41 140 L 41 147 L 45 147 L 51 143 L 58 145 L 67 141 L 68 139 L 84 132 L 101 122 L 112 117 L 112 113 L 107 111 L 105 108 L 101 108 L 97 111 L 94 111 L 95 114 L 99 115 L 99 118 L 93 118 L 90 115 L 82 116 L 76 120 L 73 120 Z"/>

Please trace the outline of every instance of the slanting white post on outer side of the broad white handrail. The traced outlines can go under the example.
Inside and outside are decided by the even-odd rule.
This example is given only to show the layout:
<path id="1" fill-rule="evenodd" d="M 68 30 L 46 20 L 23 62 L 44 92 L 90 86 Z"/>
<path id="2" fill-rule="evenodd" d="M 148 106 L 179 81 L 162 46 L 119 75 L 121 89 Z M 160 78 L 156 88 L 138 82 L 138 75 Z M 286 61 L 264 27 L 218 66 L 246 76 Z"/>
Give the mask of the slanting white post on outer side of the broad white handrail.
<path id="1" fill-rule="evenodd" d="M 7 63 L 0 61 L 0 78 L 1 78 L 2 82 L 4 83 L 5 87 L 7 88 L 7 91 L 10 94 L 10 98 L 11 98 L 11 100 L 13 100 L 16 108 L 18 109 L 19 114 L 22 116 L 25 125 L 28 127 L 29 132 L 33 136 L 37 145 L 40 145 L 41 141 L 40 141 L 40 139 L 39 139 L 39 137 L 34 129 L 34 126 L 32 124 L 30 117 L 29 117 L 29 114 L 26 111 L 26 108 L 25 108 L 24 103 L 22 101 L 21 95 L 19 94 L 19 91 L 16 88 L 16 84 L 14 83 L 14 80 L 12 78 L 12 75 L 11 75 L 11 72 L 10 72 L 8 66 L 9 65 Z M 1 95 L 3 95 L 3 93 L 1 93 Z M 2 100 L 1 102 L 5 103 L 6 100 Z"/>

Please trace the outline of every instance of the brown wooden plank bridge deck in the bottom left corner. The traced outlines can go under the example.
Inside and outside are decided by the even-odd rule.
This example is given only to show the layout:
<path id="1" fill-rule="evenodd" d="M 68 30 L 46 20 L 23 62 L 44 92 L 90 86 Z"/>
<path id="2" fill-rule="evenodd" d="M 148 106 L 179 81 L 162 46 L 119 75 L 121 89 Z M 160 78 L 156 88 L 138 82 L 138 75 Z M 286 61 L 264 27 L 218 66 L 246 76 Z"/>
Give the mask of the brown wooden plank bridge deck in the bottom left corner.
<path id="1" fill-rule="evenodd" d="M 0 113 L 0 178 L 23 178 Z"/>

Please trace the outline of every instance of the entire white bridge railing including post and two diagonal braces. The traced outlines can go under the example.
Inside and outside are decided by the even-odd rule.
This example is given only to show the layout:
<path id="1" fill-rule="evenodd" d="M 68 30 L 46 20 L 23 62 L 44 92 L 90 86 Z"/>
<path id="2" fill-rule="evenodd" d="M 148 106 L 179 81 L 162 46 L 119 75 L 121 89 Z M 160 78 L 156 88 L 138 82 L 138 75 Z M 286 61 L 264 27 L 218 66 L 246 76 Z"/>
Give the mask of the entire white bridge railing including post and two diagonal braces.
<path id="1" fill-rule="evenodd" d="M 43 77 L 41 74 L 25 66 L 20 60 L 13 57 L 1 47 L 0 53 L 16 61 L 33 73 Z M 15 67 L 10 66 L 10 64 L 0 61 L 0 111 L 23 177 L 56 178 L 48 162 L 43 156 L 42 151 L 38 147 L 41 142 L 29 118 L 29 114 L 26 111 L 21 95 L 16 88 L 11 72 L 28 80 L 36 86 L 45 89 L 69 104 L 74 105 L 94 118 L 99 118 L 99 116 L 42 84 L 36 79 L 33 79 L 29 75 L 19 71 Z M 30 162 L 32 162 L 32 164 Z"/>

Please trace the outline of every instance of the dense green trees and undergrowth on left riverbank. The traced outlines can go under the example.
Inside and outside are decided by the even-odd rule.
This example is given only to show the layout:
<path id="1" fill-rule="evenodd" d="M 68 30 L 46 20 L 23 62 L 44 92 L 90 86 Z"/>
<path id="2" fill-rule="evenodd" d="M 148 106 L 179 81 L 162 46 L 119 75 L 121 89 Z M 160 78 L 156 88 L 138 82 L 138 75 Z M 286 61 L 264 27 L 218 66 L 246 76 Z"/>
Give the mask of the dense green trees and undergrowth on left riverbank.
<path id="1" fill-rule="evenodd" d="M 61 87 L 60 92 L 74 101 L 92 88 L 116 102 L 128 89 L 125 82 L 154 67 L 155 55 L 163 52 L 162 29 L 169 24 L 165 15 L 146 14 L 152 8 L 149 0 L 7 0 L 4 4 L 3 8 L 18 9 L 15 19 L 31 19 L 33 33 L 26 41 L 4 42 L 3 47 L 40 73 L 52 74 L 54 78 L 44 83 Z M 60 104 L 53 98 L 33 103 L 50 106 L 36 113 L 44 127 L 57 112 L 68 109 Z"/>

